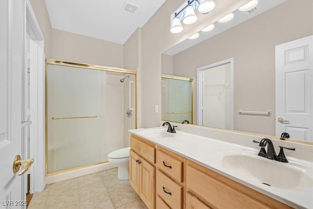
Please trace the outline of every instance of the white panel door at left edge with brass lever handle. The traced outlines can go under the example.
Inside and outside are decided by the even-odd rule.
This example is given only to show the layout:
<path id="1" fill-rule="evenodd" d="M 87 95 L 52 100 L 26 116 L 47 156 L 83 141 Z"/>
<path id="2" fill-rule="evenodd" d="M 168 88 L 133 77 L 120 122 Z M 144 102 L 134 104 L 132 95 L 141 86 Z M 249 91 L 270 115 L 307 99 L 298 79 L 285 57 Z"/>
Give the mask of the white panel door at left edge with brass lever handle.
<path id="1" fill-rule="evenodd" d="M 25 208 L 21 170 L 13 160 L 22 154 L 22 70 L 25 7 L 22 0 L 0 0 L 0 208 Z"/>

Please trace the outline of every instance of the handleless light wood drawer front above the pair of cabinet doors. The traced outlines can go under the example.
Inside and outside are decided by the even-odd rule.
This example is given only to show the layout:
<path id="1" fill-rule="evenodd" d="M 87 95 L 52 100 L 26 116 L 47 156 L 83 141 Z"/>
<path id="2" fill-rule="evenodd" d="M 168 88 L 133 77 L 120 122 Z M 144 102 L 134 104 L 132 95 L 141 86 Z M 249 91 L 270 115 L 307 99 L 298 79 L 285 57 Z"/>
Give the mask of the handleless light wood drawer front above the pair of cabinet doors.
<path id="1" fill-rule="evenodd" d="M 144 140 L 144 139 L 142 139 Z M 140 156 L 145 158 L 150 163 L 156 163 L 156 148 L 153 145 L 148 144 L 134 136 L 130 137 L 131 149 L 135 152 L 140 153 Z"/>

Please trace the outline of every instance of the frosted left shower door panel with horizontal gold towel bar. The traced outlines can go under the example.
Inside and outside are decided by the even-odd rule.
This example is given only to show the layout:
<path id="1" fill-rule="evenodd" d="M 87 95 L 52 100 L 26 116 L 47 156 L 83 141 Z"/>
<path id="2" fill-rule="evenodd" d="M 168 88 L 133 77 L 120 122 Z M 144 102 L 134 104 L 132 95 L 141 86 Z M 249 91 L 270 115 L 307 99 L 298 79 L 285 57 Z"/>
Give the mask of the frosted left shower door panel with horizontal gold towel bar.
<path id="1" fill-rule="evenodd" d="M 47 173 L 104 161 L 106 72 L 47 66 Z"/>

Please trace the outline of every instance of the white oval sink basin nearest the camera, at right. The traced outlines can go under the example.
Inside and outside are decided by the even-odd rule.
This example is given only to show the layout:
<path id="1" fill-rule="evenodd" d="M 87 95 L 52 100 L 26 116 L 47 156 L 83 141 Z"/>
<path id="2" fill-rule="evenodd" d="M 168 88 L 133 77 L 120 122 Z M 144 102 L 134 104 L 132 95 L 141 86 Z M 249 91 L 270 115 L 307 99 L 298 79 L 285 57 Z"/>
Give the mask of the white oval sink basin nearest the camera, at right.
<path id="1" fill-rule="evenodd" d="M 310 188 L 313 185 L 312 165 L 309 164 L 281 163 L 249 151 L 220 157 L 222 168 L 249 182 L 284 189 Z"/>

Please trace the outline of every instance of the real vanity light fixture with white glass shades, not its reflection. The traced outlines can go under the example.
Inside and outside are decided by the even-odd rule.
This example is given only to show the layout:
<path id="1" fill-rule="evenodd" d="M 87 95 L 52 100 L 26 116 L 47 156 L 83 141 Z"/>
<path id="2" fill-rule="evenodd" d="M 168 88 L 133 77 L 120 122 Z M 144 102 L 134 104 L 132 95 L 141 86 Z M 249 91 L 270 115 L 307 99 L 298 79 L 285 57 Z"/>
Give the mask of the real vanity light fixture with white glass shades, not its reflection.
<path id="1" fill-rule="evenodd" d="M 188 0 L 186 6 L 184 6 L 179 12 L 174 13 L 175 15 L 172 20 L 171 32 L 180 33 L 183 30 L 180 21 L 184 24 L 195 23 L 198 20 L 198 17 L 195 14 L 196 9 L 203 14 L 207 14 L 214 8 L 214 0 Z"/>

